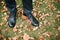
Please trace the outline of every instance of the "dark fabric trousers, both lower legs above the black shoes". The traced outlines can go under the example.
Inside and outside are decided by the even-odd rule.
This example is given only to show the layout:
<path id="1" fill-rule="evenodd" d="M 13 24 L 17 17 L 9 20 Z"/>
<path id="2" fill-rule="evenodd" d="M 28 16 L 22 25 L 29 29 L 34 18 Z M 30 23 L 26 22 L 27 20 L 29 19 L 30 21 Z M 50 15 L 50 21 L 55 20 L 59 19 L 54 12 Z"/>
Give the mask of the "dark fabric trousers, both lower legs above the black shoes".
<path id="1" fill-rule="evenodd" d="M 5 0 L 6 7 L 9 11 L 15 11 L 16 12 L 16 2 L 15 0 Z M 31 12 L 32 7 L 32 0 L 22 0 L 23 4 L 23 10 L 24 12 Z"/>

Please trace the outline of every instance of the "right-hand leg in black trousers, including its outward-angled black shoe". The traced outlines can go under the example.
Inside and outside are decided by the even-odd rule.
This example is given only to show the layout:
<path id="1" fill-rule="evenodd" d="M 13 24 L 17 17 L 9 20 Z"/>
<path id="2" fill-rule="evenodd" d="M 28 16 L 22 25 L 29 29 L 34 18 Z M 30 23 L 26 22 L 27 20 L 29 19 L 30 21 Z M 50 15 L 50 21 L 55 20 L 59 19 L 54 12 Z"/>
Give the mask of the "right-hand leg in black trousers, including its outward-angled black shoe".
<path id="1" fill-rule="evenodd" d="M 39 26 L 39 22 L 35 19 L 35 17 L 32 15 L 32 0 L 22 0 L 23 3 L 23 10 L 24 15 L 26 15 L 29 20 L 31 21 L 32 25 Z"/>

